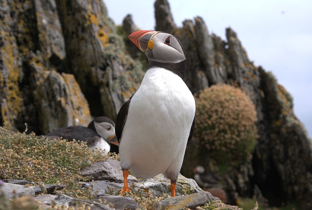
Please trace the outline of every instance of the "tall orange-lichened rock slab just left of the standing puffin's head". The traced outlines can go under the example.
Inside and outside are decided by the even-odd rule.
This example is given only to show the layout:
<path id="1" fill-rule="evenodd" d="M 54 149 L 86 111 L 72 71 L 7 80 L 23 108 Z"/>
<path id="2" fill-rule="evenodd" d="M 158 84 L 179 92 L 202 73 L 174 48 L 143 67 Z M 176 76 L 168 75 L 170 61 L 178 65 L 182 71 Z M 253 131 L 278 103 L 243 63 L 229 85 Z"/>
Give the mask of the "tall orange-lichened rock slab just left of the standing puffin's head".
<path id="1" fill-rule="evenodd" d="M 117 111 L 143 78 L 141 64 L 125 53 L 124 43 L 102 1 L 56 3 L 65 39 L 67 70 L 75 75 L 91 114 L 116 119 Z"/>

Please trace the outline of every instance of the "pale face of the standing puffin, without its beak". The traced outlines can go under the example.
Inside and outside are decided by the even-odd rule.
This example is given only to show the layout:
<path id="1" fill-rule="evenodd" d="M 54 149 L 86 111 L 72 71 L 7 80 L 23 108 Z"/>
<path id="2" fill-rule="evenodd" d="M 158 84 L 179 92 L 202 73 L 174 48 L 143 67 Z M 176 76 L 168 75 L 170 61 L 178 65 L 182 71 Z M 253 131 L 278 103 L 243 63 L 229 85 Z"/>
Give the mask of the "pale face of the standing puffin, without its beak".
<path id="1" fill-rule="evenodd" d="M 161 63 L 179 63 L 185 60 L 180 42 L 171 34 L 157 32 L 151 37 L 145 51 L 149 61 Z"/>

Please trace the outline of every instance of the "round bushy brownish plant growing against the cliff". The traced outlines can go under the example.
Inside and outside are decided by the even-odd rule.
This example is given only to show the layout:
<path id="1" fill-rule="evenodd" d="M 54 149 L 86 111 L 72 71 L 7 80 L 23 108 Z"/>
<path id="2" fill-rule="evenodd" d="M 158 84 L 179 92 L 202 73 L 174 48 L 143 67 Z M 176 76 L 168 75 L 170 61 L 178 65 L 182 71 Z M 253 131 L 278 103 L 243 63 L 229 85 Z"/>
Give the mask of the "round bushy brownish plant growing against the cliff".
<path id="1" fill-rule="evenodd" d="M 254 104 L 239 88 L 213 85 L 196 98 L 194 139 L 222 164 L 249 160 L 257 138 Z"/>

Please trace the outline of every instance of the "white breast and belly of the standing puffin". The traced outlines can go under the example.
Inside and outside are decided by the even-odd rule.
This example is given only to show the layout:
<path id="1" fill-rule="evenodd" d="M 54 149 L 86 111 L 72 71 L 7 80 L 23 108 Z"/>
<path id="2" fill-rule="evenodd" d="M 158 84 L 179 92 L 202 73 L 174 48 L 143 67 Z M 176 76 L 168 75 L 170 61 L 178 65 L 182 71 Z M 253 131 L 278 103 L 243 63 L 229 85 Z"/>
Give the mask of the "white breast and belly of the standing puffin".
<path id="1" fill-rule="evenodd" d="M 121 167 L 142 178 L 178 172 L 194 116 L 195 100 L 183 80 L 163 68 L 149 69 L 129 105 Z"/>

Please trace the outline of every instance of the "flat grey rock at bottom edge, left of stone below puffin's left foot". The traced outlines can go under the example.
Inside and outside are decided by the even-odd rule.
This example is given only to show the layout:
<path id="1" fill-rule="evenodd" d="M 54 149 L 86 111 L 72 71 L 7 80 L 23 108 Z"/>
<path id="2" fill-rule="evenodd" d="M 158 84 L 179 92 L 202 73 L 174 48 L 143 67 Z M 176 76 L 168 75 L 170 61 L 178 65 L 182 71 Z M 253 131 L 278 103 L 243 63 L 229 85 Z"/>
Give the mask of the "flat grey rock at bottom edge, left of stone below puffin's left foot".
<path id="1" fill-rule="evenodd" d="M 54 202 L 59 206 L 65 205 L 67 207 L 81 207 L 84 205 L 86 208 L 90 208 L 90 210 L 114 210 L 108 205 L 104 205 L 94 201 L 71 198 L 64 194 L 59 194 L 55 198 Z"/>

